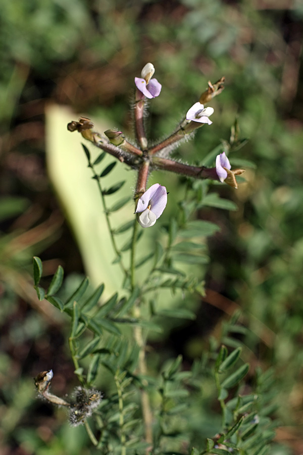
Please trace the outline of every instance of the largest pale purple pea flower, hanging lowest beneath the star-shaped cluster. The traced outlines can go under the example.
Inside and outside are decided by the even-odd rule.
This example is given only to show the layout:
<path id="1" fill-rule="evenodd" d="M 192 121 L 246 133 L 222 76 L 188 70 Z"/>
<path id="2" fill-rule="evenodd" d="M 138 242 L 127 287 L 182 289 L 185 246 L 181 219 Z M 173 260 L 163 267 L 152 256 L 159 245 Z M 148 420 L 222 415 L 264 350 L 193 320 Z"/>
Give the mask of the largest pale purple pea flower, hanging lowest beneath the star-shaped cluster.
<path id="1" fill-rule="evenodd" d="M 167 191 L 160 184 L 151 185 L 139 198 L 135 213 L 142 228 L 153 226 L 167 204 Z"/>

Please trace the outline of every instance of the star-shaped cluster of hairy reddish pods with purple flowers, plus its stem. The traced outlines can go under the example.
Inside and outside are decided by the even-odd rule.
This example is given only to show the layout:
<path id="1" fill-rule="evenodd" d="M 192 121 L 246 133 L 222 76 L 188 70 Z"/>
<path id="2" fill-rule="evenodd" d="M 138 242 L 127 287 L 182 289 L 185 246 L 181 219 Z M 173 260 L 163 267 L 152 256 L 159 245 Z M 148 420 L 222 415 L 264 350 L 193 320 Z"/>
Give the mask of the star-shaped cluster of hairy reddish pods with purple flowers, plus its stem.
<path id="1" fill-rule="evenodd" d="M 136 133 L 136 144 L 132 144 L 125 138 L 122 131 L 109 129 L 105 131 L 105 136 L 93 130 L 94 125 L 91 120 L 81 117 L 79 121 L 72 121 L 68 124 L 70 131 L 78 131 L 82 134 L 83 138 L 99 149 L 102 149 L 114 156 L 117 160 L 123 162 L 127 166 L 137 171 L 137 184 L 134 192 L 134 212 L 138 223 L 142 228 L 153 226 L 157 219 L 161 216 L 167 204 L 167 191 L 166 188 L 160 184 L 155 184 L 146 189 L 148 176 L 153 170 L 164 170 L 174 172 L 176 174 L 185 175 L 195 179 L 212 179 L 227 183 L 233 188 L 238 188 L 235 176 L 244 172 L 243 169 L 231 170 L 231 165 L 225 153 L 218 155 L 216 166 L 207 168 L 205 166 L 191 166 L 181 160 L 175 161 L 171 159 L 170 155 L 178 145 L 189 138 L 195 130 L 204 124 L 211 125 L 212 121 L 210 116 L 213 114 L 212 107 L 205 107 L 215 96 L 219 95 L 224 88 L 224 77 L 212 84 L 208 82 L 207 90 L 200 96 L 199 101 L 191 106 L 184 119 L 181 120 L 176 130 L 168 136 L 167 139 L 157 145 L 148 147 L 144 128 L 144 115 L 147 99 L 158 97 L 161 93 L 161 84 L 157 79 L 152 78 L 155 68 L 151 63 L 147 63 L 142 71 L 141 77 L 135 78 L 135 101 L 134 101 L 134 130 Z M 118 257 L 121 252 L 115 242 L 111 222 L 107 213 L 106 202 L 104 199 L 103 189 L 100 185 L 99 177 L 94 170 L 88 158 L 88 166 L 93 172 L 99 193 L 102 197 L 102 202 L 105 209 L 106 220 L 109 231 L 111 233 L 112 244 L 115 253 Z M 129 291 L 132 293 L 137 286 L 135 277 L 135 246 L 137 241 L 137 232 L 139 226 L 134 222 L 132 244 L 130 252 L 130 286 Z M 120 265 L 127 276 L 128 271 L 122 261 Z M 141 295 L 135 301 L 132 316 L 135 319 L 141 319 L 141 302 L 142 302 L 142 289 Z M 144 377 L 147 373 L 146 358 L 145 358 L 145 345 L 146 339 L 143 337 L 142 327 L 135 326 L 134 338 L 139 347 L 138 358 L 138 373 Z M 147 386 L 147 383 L 144 383 Z M 118 386 L 117 386 L 118 388 Z M 119 394 L 119 390 L 118 390 Z M 145 428 L 145 441 L 152 444 L 152 423 L 153 414 L 151 413 L 148 393 L 144 387 L 141 389 L 141 408 Z M 221 403 L 222 404 L 222 403 Z M 119 410 L 121 407 L 121 396 L 119 395 Z M 223 409 L 224 411 L 224 409 Z M 122 415 L 122 410 L 120 410 Z M 123 422 L 120 421 L 120 428 L 122 429 Z M 125 435 L 121 433 L 122 454 L 125 453 Z"/>

